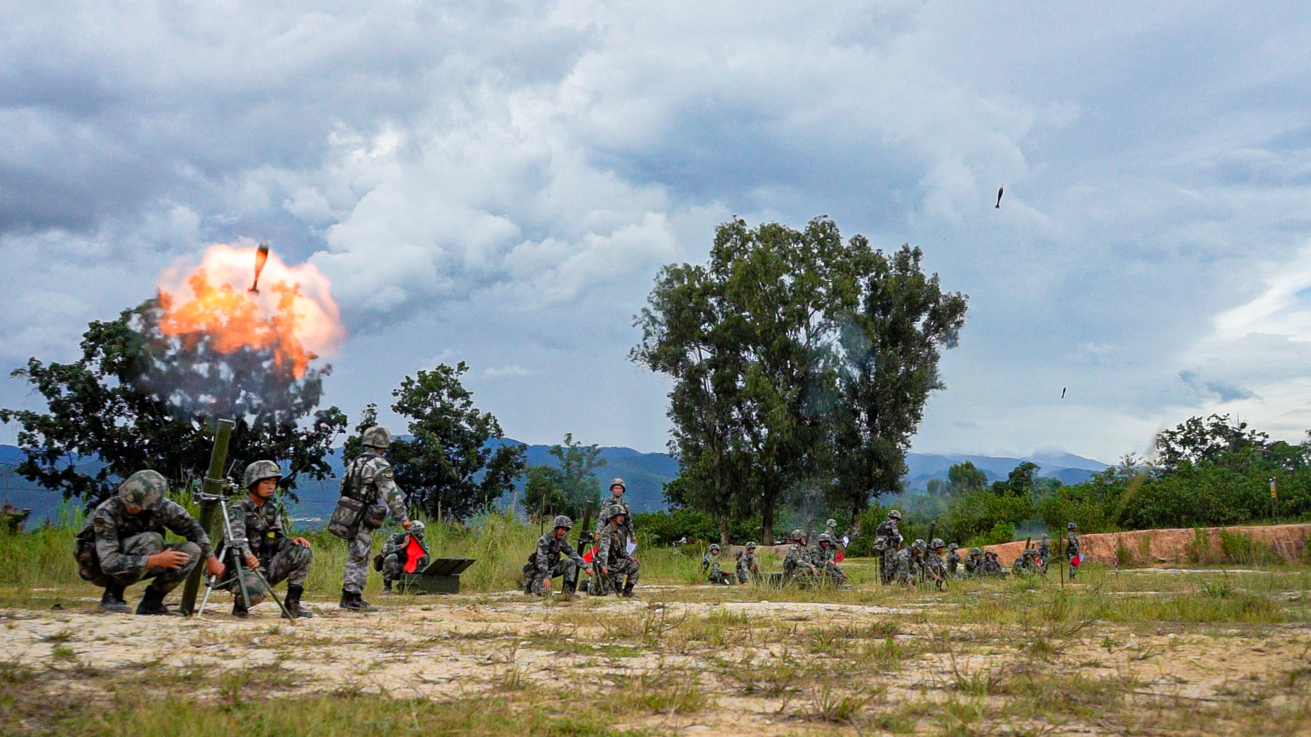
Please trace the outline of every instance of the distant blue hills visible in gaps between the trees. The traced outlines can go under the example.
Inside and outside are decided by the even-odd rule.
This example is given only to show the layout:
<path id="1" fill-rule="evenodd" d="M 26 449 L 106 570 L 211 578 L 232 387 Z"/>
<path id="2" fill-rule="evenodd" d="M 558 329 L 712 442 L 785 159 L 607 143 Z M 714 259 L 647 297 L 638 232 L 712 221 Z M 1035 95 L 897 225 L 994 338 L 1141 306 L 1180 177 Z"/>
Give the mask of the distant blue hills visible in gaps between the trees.
<path id="1" fill-rule="evenodd" d="M 518 444 L 518 441 L 510 439 L 502 442 Z M 548 453 L 549 448 L 549 445 L 528 445 L 528 463 L 557 466 L 555 457 Z M 343 466 L 340 453 L 341 450 L 337 449 L 329 457 L 329 463 L 337 478 L 321 482 L 309 479 L 300 482 L 296 490 L 300 503 L 291 509 L 292 516 L 313 524 L 313 521 L 321 522 L 332 514 L 333 505 L 338 497 L 338 478 Z M 642 453 L 621 446 L 603 446 L 600 457 L 606 459 L 606 465 L 597 470 L 597 479 L 600 482 L 602 488 L 608 486 L 610 479 L 619 476 L 628 486 L 627 499 L 633 512 L 652 512 L 665 508 L 661 490 L 666 482 L 673 480 L 678 475 L 678 461 L 667 453 Z M 0 445 L 0 501 L 9 500 L 17 507 L 31 508 L 35 521 L 54 518 L 63 500 L 59 495 L 43 490 L 13 473 L 13 465 L 22 458 L 24 453 L 18 448 Z M 945 479 L 947 471 L 952 465 L 965 461 L 970 461 L 974 466 L 982 469 L 987 474 L 988 480 L 1004 479 L 1020 462 L 1032 461 L 1041 466 L 1040 475 L 1058 478 L 1066 484 L 1084 482 L 1092 474 L 1108 467 L 1106 463 L 1100 461 L 1070 453 L 1040 453 L 1029 458 L 910 453 L 906 457 L 909 467 L 906 487 L 909 491 L 922 491 L 927 487 L 929 479 Z M 519 483 L 522 484 L 523 482 L 520 480 Z"/>

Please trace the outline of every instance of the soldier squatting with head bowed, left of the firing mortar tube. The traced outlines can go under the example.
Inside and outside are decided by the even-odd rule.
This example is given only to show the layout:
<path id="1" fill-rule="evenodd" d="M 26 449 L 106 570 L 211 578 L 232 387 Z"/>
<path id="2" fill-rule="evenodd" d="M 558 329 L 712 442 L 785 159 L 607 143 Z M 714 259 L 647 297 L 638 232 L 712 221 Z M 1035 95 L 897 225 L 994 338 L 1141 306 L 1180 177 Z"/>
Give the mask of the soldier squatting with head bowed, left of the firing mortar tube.
<path id="1" fill-rule="evenodd" d="M 159 471 L 136 471 L 90 516 L 77 534 L 77 573 L 105 588 L 101 611 L 127 614 L 127 586 L 153 579 L 136 605 L 136 614 L 176 614 L 164 596 L 186 580 L 202 559 L 211 576 L 223 575 L 205 529 L 180 504 L 164 499 L 168 482 Z M 164 530 L 187 542 L 164 542 Z"/>

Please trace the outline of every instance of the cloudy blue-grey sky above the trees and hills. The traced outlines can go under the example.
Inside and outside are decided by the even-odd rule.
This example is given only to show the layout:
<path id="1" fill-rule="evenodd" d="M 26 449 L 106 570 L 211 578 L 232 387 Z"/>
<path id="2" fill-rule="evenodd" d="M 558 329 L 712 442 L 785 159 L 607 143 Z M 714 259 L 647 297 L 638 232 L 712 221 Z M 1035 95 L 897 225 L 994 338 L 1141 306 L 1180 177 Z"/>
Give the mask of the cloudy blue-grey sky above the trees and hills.
<path id="1" fill-rule="evenodd" d="M 716 224 L 819 215 L 969 295 L 914 449 L 1311 428 L 1297 3 L 5 1 L 0 368 L 208 243 L 332 280 L 328 403 L 465 361 L 507 436 L 662 450 L 628 360 Z M 998 187 L 1006 187 L 1000 208 Z M 1065 398 L 1061 398 L 1065 390 Z M 39 407 L 17 378 L 0 406 Z M 0 427 L 13 442 L 14 425 Z"/>

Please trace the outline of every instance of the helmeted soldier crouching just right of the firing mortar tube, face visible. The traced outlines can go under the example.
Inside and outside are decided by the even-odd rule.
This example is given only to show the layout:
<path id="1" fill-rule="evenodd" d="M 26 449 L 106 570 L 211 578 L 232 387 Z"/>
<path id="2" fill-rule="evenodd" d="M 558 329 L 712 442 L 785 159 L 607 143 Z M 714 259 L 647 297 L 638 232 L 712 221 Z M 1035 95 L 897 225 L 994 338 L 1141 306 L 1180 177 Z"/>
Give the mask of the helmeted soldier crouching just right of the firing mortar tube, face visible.
<path id="1" fill-rule="evenodd" d="M 300 596 L 305 592 L 305 577 L 315 554 L 305 538 L 287 537 L 282 505 L 273 501 L 279 480 L 282 469 L 273 461 L 256 461 L 246 466 L 243 483 L 246 497 L 228 507 L 232 539 L 224 541 L 224 546 L 245 562 L 241 577 L 245 579 L 252 605 L 269 594 L 254 572 L 260 569 L 270 586 L 286 579 L 287 598 L 283 603 L 292 617 L 313 617 L 300 606 Z M 249 613 L 241 597 L 241 584 L 233 580 L 228 590 L 232 592 L 232 615 L 245 618 Z"/>

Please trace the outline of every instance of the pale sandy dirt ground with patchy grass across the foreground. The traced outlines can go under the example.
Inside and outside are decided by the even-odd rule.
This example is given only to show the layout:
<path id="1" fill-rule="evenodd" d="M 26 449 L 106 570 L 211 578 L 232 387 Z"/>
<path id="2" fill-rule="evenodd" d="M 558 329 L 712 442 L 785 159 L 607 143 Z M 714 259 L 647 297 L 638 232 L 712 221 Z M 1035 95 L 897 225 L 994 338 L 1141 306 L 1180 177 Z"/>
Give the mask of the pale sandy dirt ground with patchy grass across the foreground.
<path id="1" fill-rule="evenodd" d="M 644 734 L 1311 734 L 1308 586 L 1303 568 L 949 592 L 645 585 L 637 601 L 389 597 L 368 615 L 315 602 L 295 623 L 273 603 L 143 618 L 31 592 L 0 610 L 0 675 L 28 674 L 7 698 L 38 733 L 50 713 L 14 699 L 113 706 L 148 682 L 198 702 L 599 694 L 617 733 Z"/>

